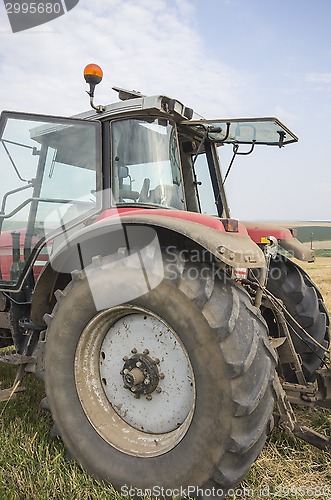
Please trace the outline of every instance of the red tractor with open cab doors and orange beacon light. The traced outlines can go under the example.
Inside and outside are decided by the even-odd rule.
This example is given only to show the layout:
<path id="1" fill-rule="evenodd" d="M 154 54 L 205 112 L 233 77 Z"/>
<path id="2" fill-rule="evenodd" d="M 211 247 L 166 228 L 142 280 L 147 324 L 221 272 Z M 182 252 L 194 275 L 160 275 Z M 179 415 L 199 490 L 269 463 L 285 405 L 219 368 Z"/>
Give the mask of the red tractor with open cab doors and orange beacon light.
<path id="1" fill-rule="evenodd" d="M 1 114 L 0 355 L 17 375 L 0 401 L 34 373 L 53 434 L 122 492 L 223 498 L 274 426 L 330 449 L 295 415 L 331 407 L 329 316 L 297 264 L 313 252 L 231 218 L 224 188 L 237 155 L 297 137 L 118 87 L 96 105 L 102 70 L 84 76 L 85 113 Z"/>

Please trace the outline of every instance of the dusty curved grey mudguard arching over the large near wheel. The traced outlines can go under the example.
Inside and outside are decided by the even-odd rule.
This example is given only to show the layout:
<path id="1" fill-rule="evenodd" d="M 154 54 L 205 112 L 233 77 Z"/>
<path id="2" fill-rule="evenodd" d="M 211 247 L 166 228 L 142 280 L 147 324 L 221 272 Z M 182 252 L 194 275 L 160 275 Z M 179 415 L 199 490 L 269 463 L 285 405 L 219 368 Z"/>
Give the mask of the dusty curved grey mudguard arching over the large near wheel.
<path id="1" fill-rule="evenodd" d="M 157 247 L 199 249 L 202 258 L 238 268 L 264 268 L 265 256 L 248 235 L 221 232 L 186 219 L 145 214 L 110 217 L 69 236 L 50 256 L 34 290 L 31 318 L 44 324 L 51 298 L 65 282 L 64 276 L 89 266 L 95 256 L 128 258 L 139 249 L 139 258 L 156 255 Z M 142 255 L 142 257 L 141 257 Z M 70 278 L 70 276 L 69 276 Z M 69 279 L 68 278 L 68 279 Z M 66 283 L 65 283 L 66 284 Z"/>

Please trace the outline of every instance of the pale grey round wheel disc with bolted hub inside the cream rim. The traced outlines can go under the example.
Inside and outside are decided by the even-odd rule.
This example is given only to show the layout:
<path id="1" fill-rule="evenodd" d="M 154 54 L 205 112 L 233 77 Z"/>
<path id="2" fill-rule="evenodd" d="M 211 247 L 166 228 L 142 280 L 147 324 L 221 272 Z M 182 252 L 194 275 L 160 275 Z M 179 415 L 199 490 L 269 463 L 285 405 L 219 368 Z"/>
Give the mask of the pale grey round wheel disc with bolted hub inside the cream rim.
<path id="1" fill-rule="evenodd" d="M 171 432 L 194 405 L 188 355 L 160 318 L 130 313 L 116 318 L 103 338 L 99 358 L 103 390 L 115 412 L 132 427 Z"/>

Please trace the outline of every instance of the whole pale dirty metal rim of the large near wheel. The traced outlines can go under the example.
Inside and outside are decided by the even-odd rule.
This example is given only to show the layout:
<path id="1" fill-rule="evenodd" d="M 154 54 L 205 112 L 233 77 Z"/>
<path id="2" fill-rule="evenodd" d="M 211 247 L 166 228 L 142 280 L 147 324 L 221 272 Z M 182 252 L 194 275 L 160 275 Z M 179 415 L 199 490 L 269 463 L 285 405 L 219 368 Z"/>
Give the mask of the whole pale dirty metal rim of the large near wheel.
<path id="1" fill-rule="evenodd" d="M 147 386 L 142 382 L 125 388 L 123 366 L 145 358 L 154 361 L 157 387 L 137 395 L 132 391 Z M 149 372 L 144 377 L 148 382 Z M 192 421 L 195 381 L 187 351 L 168 324 L 142 308 L 119 306 L 90 321 L 77 346 L 75 380 L 91 425 L 127 454 L 166 453 L 181 441 Z"/>

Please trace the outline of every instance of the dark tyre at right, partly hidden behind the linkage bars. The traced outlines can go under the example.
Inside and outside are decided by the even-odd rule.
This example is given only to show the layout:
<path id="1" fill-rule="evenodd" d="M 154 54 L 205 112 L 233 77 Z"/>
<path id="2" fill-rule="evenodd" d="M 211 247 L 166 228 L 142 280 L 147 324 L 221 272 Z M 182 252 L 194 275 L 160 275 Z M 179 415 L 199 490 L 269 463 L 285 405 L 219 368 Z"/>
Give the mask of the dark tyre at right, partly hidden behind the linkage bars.
<path id="1" fill-rule="evenodd" d="M 311 337 L 328 348 L 330 342 L 329 316 L 322 295 L 309 276 L 293 261 L 278 255 L 271 260 L 267 289 L 284 303 L 287 311 Z M 268 311 L 268 310 L 267 310 Z M 265 312 L 272 335 L 278 336 L 272 314 Z M 270 311 L 270 310 L 269 310 Z M 302 359 L 302 367 L 308 382 L 316 379 L 316 370 L 324 359 L 323 349 L 304 335 L 293 320 L 285 315 L 296 352 Z M 281 363 L 280 359 L 280 363 Z M 282 365 L 284 378 L 298 383 L 293 366 Z"/>

